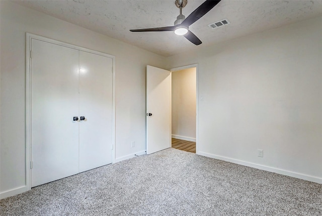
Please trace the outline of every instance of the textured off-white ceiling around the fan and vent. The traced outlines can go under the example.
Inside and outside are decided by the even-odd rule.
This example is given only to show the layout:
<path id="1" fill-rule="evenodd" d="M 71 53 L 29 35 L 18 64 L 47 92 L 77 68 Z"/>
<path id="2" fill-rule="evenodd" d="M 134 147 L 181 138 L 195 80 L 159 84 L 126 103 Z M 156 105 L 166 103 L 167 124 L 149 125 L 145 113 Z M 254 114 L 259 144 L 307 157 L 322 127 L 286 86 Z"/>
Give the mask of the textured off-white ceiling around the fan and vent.
<path id="1" fill-rule="evenodd" d="M 130 32 L 129 29 L 172 26 L 179 15 L 174 2 L 25 0 L 16 3 L 151 52 L 171 56 L 193 51 L 197 46 L 173 32 Z M 188 0 L 183 14 L 188 17 L 203 2 Z M 206 47 L 317 16 L 322 16 L 322 1 L 222 0 L 189 29 L 203 42 L 198 47 Z M 222 19 L 228 19 L 230 24 L 215 29 L 207 26 Z"/>

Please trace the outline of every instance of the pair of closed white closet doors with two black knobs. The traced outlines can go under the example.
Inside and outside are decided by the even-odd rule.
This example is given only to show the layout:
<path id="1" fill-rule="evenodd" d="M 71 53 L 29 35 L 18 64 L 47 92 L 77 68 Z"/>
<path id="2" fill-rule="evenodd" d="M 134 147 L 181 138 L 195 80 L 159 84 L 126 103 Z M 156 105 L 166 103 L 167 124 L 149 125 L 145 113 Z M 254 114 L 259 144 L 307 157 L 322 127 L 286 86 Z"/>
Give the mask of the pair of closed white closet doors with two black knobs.
<path id="1" fill-rule="evenodd" d="M 31 40 L 31 186 L 112 162 L 113 59 Z"/>

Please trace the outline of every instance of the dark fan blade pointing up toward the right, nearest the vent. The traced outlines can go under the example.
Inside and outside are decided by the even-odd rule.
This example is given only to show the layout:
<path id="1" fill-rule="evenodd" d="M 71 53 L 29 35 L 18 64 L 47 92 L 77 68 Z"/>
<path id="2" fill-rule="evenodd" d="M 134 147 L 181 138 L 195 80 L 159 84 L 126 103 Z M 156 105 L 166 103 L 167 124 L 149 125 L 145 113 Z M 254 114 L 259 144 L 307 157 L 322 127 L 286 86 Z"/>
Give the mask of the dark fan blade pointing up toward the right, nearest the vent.
<path id="1" fill-rule="evenodd" d="M 213 7 L 215 7 L 219 1 L 207 0 L 202 3 L 196 10 L 194 10 L 182 23 L 186 27 L 199 20 L 203 15 L 207 14 Z"/>

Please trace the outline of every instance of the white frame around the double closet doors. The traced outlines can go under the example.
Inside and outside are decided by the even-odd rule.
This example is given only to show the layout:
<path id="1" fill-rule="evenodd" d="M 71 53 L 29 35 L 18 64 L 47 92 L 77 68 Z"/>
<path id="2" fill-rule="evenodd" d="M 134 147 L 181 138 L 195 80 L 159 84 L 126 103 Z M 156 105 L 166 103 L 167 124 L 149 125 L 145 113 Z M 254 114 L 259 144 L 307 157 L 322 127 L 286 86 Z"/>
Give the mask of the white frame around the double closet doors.
<path id="1" fill-rule="evenodd" d="M 103 52 L 95 51 L 92 49 L 87 49 L 81 46 L 76 46 L 73 44 L 68 44 L 65 42 L 61 42 L 58 40 L 53 40 L 50 38 L 42 37 L 39 35 L 26 33 L 26 126 L 25 126 L 25 133 L 26 133 L 26 191 L 31 190 L 31 72 L 32 72 L 32 65 L 31 65 L 31 41 L 32 39 L 41 40 L 48 43 L 53 43 L 60 46 L 65 46 L 72 49 L 77 49 L 85 52 L 90 52 L 97 55 L 106 56 L 112 58 L 112 163 L 115 163 L 115 56 L 106 54 Z"/>

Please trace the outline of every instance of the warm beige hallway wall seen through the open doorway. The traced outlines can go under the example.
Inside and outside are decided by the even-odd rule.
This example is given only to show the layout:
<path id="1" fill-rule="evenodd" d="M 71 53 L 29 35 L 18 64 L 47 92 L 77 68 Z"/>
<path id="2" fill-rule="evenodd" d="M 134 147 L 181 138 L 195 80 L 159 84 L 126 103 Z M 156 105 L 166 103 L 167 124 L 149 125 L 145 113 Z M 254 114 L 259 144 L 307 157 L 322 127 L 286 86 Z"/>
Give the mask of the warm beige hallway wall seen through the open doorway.
<path id="1" fill-rule="evenodd" d="M 196 67 L 172 72 L 172 137 L 196 140 Z"/>

